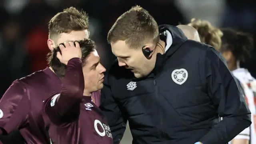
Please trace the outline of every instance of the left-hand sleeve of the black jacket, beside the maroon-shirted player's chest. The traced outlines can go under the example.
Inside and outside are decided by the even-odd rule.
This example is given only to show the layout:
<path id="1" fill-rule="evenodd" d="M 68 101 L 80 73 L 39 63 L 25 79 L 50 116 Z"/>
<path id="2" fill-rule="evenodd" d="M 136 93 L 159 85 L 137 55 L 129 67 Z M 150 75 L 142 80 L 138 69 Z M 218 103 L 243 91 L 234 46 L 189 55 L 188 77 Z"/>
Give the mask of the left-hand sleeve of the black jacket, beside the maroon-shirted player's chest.
<path id="1" fill-rule="evenodd" d="M 105 76 L 104 79 L 100 102 L 100 109 L 108 119 L 108 125 L 110 126 L 114 144 L 119 144 L 126 129 L 127 118 L 125 118 L 124 113 L 121 112 L 122 108 L 112 95 L 108 75 Z"/>

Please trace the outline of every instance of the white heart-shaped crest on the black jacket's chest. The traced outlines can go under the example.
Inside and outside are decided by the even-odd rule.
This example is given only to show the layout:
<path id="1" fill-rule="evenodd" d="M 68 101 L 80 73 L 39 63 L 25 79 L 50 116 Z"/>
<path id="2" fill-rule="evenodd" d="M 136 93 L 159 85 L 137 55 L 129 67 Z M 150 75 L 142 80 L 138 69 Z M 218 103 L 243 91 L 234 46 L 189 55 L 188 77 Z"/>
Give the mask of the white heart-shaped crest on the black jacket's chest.
<path id="1" fill-rule="evenodd" d="M 184 68 L 181 68 L 179 70 L 177 69 L 172 72 L 172 80 L 176 84 L 180 84 L 180 85 L 183 84 L 184 82 L 186 82 L 187 78 L 188 78 L 188 72 Z"/>

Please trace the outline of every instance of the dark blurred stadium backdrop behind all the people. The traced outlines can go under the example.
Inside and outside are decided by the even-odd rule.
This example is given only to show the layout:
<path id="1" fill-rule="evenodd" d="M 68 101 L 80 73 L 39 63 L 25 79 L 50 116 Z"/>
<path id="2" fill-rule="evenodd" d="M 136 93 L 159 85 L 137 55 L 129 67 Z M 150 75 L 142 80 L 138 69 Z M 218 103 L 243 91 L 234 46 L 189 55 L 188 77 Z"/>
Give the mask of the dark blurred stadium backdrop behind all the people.
<path id="1" fill-rule="evenodd" d="M 74 6 L 90 18 L 90 38 L 96 42 L 102 64 L 108 68 L 115 57 L 106 41 L 108 30 L 123 12 L 142 6 L 158 24 L 187 24 L 191 18 L 210 21 L 256 35 L 255 0 L 0 0 L 0 96 L 23 76 L 44 69 L 48 21 L 57 12 Z M 256 50 L 241 67 L 256 77 Z M 129 129 L 122 144 L 131 144 Z"/>

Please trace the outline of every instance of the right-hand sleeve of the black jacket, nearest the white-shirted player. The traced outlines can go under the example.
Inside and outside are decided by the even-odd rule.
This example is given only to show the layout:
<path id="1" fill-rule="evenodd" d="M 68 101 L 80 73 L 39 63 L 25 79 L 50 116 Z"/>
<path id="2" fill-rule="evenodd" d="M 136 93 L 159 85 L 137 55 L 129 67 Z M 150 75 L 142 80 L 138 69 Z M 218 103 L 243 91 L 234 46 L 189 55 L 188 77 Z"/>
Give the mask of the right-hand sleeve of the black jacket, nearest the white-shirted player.
<path id="1" fill-rule="evenodd" d="M 250 110 L 222 55 L 214 48 L 208 48 L 203 60 L 202 79 L 206 80 L 208 94 L 223 119 L 199 141 L 203 144 L 225 144 L 250 126 Z"/>

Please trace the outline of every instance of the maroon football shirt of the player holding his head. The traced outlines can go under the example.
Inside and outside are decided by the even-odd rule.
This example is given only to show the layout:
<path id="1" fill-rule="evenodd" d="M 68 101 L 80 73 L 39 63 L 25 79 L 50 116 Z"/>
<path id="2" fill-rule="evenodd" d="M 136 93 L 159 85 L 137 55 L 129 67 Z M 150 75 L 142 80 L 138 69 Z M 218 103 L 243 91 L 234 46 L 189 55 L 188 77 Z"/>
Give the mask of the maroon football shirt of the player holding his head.
<path id="1" fill-rule="evenodd" d="M 83 96 L 82 61 L 68 61 L 60 93 L 54 92 L 44 102 L 45 121 L 50 125 L 53 144 L 113 144 L 106 118 L 90 96 Z"/>

